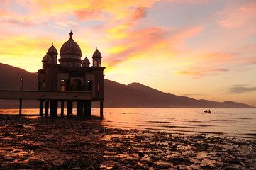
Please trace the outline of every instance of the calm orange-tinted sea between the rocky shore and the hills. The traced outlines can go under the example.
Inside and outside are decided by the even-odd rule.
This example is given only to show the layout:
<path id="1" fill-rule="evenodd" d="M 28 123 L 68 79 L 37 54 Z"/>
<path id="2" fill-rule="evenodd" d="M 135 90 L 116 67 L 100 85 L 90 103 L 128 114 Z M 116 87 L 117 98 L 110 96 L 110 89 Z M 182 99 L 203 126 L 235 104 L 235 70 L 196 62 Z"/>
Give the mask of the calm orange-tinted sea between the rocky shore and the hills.
<path id="1" fill-rule="evenodd" d="M 256 108 L 213 108 L 204 113 L 205 109 L 104 108 L 104 120 L 99 121 L 112 128 L 256 138 Z M 0 113 L 18 114 L 18 109 Z M 23 114 L 36 113 L 38 109 L 23 109 Z M 99 108 L 93 108 L 92 114 L 99 115 Z"/>

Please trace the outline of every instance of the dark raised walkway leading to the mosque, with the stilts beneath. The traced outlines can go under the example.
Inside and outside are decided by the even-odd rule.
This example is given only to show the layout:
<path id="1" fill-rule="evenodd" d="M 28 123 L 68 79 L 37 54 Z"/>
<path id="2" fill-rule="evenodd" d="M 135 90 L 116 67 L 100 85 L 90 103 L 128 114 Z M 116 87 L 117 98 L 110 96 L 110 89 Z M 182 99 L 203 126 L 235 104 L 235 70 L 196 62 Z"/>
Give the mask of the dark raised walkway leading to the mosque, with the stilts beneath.
<path id="1" fill-rule="evenodd" d="M 22 110 L 23 100 L 40 101 L 39 113 L 43 116 L 43 103 L 45 103 L 45 117 L 48 117 L 50 104 L 50 115 L 57 117 L 58 102 L 61 102 L 61 113 L 64 116 L 64 102 L 67 102 L 67 117 L 72 116 L 73 102 L 77 102 L 77 116 L 91 118 L 91 101 L 99 101 L 101 98 L 93 98 L 91 91 L 13 91 L 0 90 L 0 99 L 19 100 L 20 111 Z M 103 98 L 102 98 L 103 100 Z M 100 101 L 100 114 L 103 115 L 103 101 Z"/>

